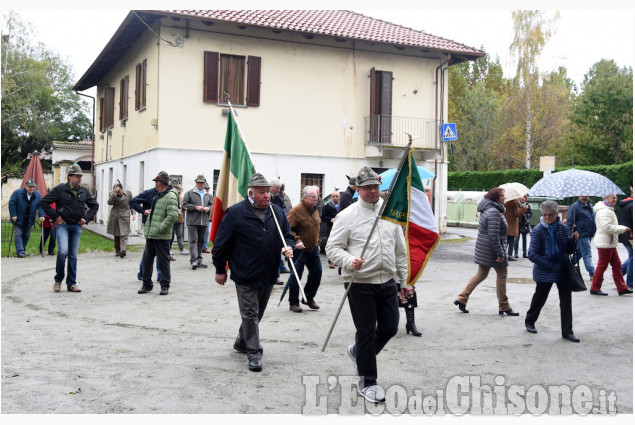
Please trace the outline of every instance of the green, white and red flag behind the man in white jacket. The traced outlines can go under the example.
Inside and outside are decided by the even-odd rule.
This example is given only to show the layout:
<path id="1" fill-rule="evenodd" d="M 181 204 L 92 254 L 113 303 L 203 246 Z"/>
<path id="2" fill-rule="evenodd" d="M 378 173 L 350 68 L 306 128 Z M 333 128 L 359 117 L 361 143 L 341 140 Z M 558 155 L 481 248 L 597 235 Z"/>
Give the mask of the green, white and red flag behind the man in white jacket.
<path id="1" fill-rule="evenodd" d="M 417 282 L 441 239 L 413 152 L 410 148 L 381 217 L 405 228 L 409 286 Z"/>

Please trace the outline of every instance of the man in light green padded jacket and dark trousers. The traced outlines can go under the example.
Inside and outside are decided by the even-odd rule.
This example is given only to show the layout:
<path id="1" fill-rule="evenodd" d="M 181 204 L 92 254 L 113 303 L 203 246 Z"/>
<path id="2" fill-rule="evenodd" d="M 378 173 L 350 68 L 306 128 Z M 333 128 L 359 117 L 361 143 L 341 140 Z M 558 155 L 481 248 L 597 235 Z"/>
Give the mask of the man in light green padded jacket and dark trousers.
<path id="1" fill-rule="evenodd" d="M 152 201 L 144 228 L 146 249 L 143 254 L 143 286 L 138 292 L 145 294 L 152 291 L 152 263 L 157 257 L 157 268 L 161 270 L 160 295 L 167 295 L 170 289 L 170 241 L 172 227 L 178 217 L 179 195 L 172 188 L 170 176 L 165 171 L 159 172 L 152 180 L 158 194 Z"/>

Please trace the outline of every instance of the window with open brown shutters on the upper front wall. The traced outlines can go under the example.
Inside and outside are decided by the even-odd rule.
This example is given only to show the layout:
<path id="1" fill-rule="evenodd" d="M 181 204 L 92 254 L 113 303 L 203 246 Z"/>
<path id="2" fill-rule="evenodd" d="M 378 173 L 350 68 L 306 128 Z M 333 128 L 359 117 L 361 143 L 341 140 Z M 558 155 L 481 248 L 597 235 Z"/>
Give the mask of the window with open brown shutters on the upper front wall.
<path id="1" fill-rule="evenodd" d="M 205 52 L 203 62 L 204 102 L 226 104 L 227 93 L 234 105 L 260 105 L 260 57 Z"/>

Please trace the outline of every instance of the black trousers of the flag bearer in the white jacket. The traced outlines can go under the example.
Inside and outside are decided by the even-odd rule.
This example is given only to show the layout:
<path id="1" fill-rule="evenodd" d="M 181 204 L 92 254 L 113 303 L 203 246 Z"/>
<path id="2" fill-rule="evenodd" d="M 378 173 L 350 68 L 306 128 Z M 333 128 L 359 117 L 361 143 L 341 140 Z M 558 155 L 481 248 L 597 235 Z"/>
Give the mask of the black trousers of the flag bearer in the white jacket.
<path id="1" fill-rule="evenodd" d="M 348 282 L 345 284 L 348 285 Z M 377 354 L 397 334 L 399 297 L 393 279 L 382 284 L 354 283 L 348 305 L 355 323 L 357 371 L 364 387 L 377 384 Z M 307 295 L 308 296 L 308 295 Z"/>

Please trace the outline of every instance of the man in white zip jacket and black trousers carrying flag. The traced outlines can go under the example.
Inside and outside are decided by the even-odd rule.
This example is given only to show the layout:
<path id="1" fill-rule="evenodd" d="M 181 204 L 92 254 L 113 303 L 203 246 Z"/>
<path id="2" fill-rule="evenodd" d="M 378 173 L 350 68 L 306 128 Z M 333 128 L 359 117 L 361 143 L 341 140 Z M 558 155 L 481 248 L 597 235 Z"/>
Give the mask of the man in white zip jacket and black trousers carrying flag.
<path id="1" fill-rule="evenodd" d="M 376 356 L 397 333 L 399 301 L 395 272 L 405 295 L 408 272 L 406 242 L 401 227 L 379 220 L 368 248 L 361 257 L 366 239 L 381 209 L 379 177 L 370 167 L 363 167 L 357 175 L 358 202 L 340 211 L 326 244 L 327 257 L 342 268 L 342 278 L 350 284 L 353 271 L 355 282 L 348 293 L 348 304 L 357 332 L 355 344 L 348 347 L 356 373 L 363 378 L 360 395 L 372 402 L 385 400 L 384 391 L 377 385 Z"/>

